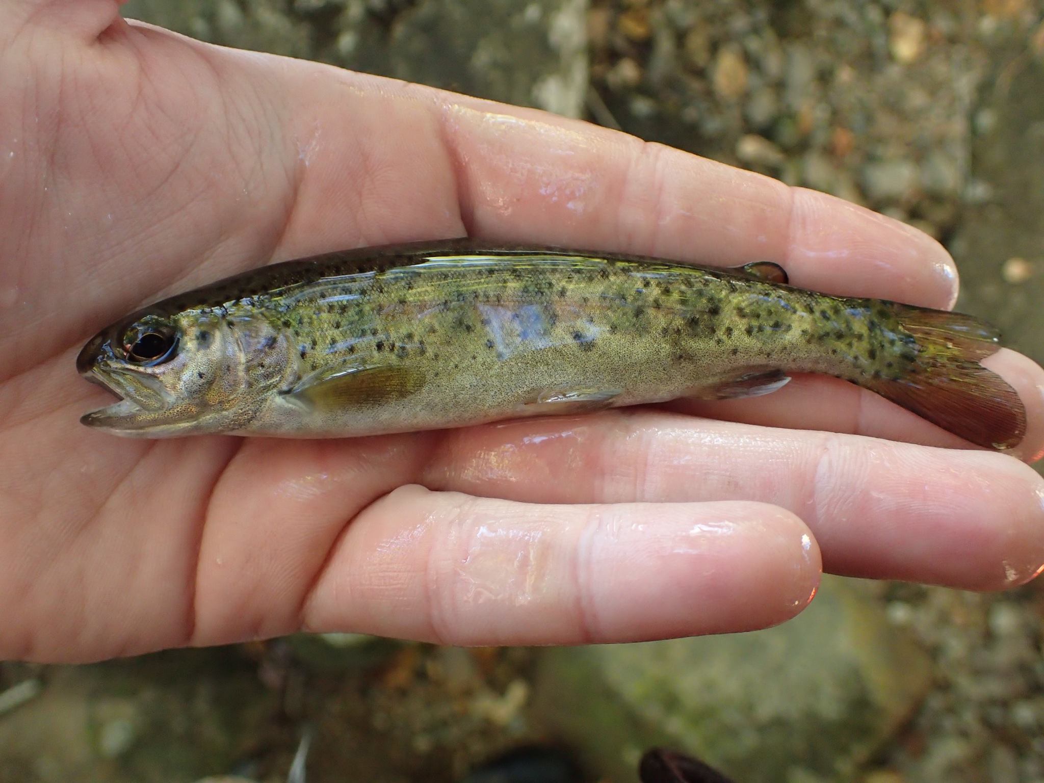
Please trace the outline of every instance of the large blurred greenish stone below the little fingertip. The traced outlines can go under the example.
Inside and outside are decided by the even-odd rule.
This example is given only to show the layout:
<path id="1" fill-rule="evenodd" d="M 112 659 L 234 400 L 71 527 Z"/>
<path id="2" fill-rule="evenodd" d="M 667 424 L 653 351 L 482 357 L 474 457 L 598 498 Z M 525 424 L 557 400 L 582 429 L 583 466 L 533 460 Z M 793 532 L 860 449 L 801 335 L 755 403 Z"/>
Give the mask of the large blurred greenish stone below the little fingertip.
<path id="1" fill-rule="evenodd" d="M 828 577 L 800 617 L 767 631 L 545 650 L 533 701 L 613 780 L 665 745 L 744 783 L 834 781 L 854 779 L 931 682 L 880 603 Z"/>

